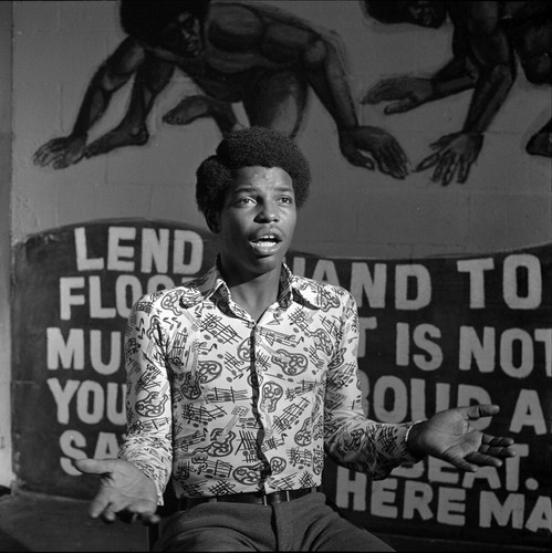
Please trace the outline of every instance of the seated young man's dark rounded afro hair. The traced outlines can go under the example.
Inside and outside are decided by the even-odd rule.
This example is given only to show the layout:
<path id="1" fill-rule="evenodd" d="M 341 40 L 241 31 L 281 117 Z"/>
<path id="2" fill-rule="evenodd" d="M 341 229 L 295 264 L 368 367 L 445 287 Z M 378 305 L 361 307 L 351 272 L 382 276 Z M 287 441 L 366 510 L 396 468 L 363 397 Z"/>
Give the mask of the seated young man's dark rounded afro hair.
<path id="1" fill-rule="evenodd" d="M 216 154 L 196 171 L 196 201 L 199 211 L 219 211 L 225 192 L 242 167 L 280 167 L 291 177 L 298 209 L 309 196 L 309 161 L 289 136 L 265 127 L 249 127 L 228 134 Z"/>

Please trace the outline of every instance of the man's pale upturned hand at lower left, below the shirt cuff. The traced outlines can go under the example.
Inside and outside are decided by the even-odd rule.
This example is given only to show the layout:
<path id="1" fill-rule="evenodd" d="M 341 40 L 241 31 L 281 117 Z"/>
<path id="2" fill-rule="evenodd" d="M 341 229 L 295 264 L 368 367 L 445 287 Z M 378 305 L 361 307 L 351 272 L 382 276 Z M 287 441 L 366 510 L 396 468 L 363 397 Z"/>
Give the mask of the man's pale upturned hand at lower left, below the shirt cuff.
<path id="1" fill-rule="evenodd" d="M 142 470 L 123 459 L 76 459 L 74 466 L 85 474 L 102 477 L 88 513 L 93 519 L 114 522 L 142 521 L 156 524 L 157 488 Z"/>

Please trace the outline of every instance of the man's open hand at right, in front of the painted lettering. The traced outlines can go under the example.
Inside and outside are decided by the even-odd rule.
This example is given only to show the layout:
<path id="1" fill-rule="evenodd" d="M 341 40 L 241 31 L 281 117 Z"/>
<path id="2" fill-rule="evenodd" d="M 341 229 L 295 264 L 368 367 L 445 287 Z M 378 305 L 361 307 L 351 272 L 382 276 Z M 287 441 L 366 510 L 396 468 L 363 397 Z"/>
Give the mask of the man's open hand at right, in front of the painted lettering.
<path id="1" fill-rule="evenodd" d="M 481 432 L 471 424 L 499 411 L 498 405 L 472 405 L 439 411 L 412 427 L 408 449 L 415 457 L 430 455 L 464 471 L 500 467 L 502 459 L 515 456 L 513 440 Z"/>

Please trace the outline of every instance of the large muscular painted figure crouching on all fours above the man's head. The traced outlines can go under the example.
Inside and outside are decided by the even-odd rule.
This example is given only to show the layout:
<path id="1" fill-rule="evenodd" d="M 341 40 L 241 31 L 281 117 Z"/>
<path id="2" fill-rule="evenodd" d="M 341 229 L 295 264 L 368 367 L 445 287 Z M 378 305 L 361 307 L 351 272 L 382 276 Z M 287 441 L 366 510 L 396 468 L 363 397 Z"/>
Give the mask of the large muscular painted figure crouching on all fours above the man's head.
<path id="1" fill-rule="evenodd" d="M 164 115 L 165 123 L 211 117 L 226 134 L 240 126 L 232 104 L 241 103 L 249 125 L 294 137 L 312 90 L 334 119 L 341 152 L 352 165 L 406 176 L 397 140 L 382 128 L 358 124 L 335 34 L 260 2 L 123 0 L 119 14 L 127 38 L 93 76 L 71 134 L 40 147 L 37 165 L 61 169 L 146 144 L 146 118 L 178 67 L 200 93 L 184 97 Z M 123 119 L 88 144 L 90 129 L 133 76 Z"/>

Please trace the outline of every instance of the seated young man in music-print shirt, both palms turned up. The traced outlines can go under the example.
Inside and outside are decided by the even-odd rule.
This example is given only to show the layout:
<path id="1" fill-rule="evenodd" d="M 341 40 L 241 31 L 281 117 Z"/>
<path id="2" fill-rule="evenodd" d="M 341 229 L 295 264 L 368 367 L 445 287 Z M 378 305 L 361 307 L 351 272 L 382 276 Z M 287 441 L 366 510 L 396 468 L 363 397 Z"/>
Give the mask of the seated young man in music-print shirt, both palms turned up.
<path id="1" fill-rule="evenodd" d="M 128 317 L 119 458 L 75 461 L 103 474 L 93 518 L 156 523 L 168 484 L 180 510 L 164 523 L 162 550 L 390 551 L 326 504 L 324 452 L 374 479 L 426 455 L 460 470 L 514 455 L 511 439 L 470 425 L 498 406 L 416 424 L 365 418 L 352 294 L 284 262 L 309 185 L 293 140 L 263 127 L 228 135 L 200 165 L 197 202 L 219 254 Z"/>

